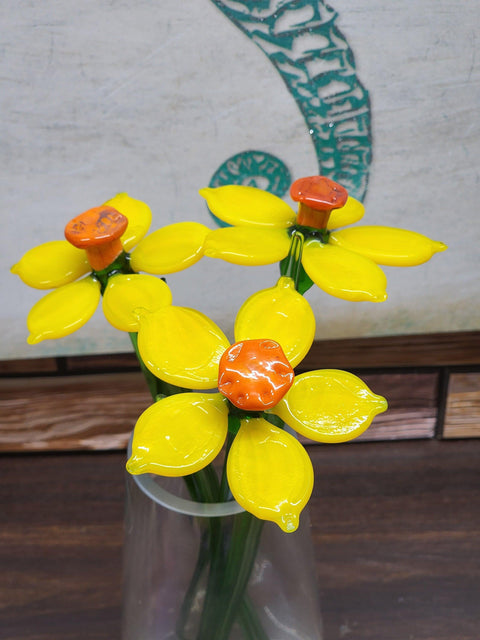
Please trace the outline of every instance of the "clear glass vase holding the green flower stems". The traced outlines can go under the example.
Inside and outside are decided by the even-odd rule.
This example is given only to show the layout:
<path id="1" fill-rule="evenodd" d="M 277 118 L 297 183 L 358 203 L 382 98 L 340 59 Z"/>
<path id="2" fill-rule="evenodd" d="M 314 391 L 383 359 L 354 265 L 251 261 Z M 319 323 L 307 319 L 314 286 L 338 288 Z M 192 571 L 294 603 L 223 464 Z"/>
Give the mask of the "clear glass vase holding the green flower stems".
<path id="1" fill-rule="evenodd" d="M 127 477 L 123 640 L 321 640 L 308 513 L 295 533 L 181 478 Z"/>

